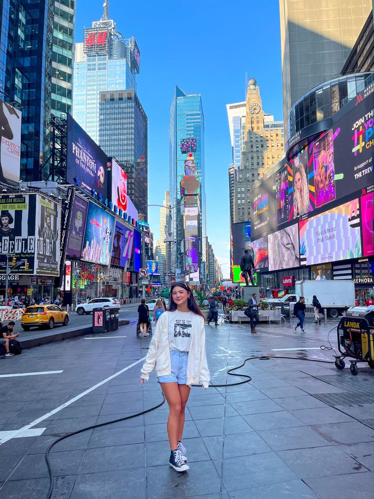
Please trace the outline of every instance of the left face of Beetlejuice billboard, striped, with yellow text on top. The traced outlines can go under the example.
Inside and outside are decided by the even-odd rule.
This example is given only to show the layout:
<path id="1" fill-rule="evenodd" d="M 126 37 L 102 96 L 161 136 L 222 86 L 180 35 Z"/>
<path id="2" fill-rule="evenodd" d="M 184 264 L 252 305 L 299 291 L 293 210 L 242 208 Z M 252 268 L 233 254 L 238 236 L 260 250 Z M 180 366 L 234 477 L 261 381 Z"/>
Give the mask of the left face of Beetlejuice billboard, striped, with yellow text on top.
<path id="1" fill-rule="evenodd" d="M 36 195 L 0 196 L 0 273 L 12 268 L 17 274 L 36 274 Z M 8 256 L 7 256 L 8 255 Z"/>

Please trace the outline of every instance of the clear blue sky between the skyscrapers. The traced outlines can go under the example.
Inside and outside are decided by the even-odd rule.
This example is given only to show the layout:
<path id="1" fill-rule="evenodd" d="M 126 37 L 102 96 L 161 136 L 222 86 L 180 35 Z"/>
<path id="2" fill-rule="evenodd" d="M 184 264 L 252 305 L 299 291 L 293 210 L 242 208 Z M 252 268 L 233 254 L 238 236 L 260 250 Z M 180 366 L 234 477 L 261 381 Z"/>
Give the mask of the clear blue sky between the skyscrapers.
<path id="1" fill-rule="evenodd" d="M 76 42 L 99 20 L 103 0 L 79 0 Z M 205 115 L 207 235 L 221 264 L 229 263 L 228 165 L 232 161 L 226 104 L 245 100 L 245 72 L 257 79 L 263 106 L 283 119 L 277 0 L 110 0 L 110 18 L 141 53 L 138 96 L 148 115 L 148 199 L 162 204 L 169 188 L 169 116 L 175 85 L 201 94 Z M 159 209 L 149 208 L 159 238 Z M 229 265 L 223 265 L 229 277 Z"/>

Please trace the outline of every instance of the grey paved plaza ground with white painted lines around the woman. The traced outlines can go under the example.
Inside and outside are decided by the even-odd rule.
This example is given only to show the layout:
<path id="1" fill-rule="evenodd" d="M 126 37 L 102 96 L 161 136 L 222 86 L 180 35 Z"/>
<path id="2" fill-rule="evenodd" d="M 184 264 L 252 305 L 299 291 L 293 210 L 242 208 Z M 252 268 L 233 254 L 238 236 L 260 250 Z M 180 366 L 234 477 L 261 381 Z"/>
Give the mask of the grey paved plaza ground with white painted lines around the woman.
<path id="1" fill-rule="evenodd" d="M 359 374 L 352 376 L 347 368 L 304 360 L 332 359 L 331 351 L 318 347 L 328 344 L 333 327 L 336 322 L 307 322 L 303 335 L 283 322 L 261 325 L 251 335 L 247 324 L 206 326 L 213 384 L 235 382 L 226 371 L 247 357 L 297 360 L 253 360 L 239 371 L 250 374 L 251 383 L 192 389 L 183 439 L 189 472 L 178 474 L 168 465 L 164 404 L 54 446 L 52 497 L 372 499 L 374 372 L 359 365 Z M 47 496 L 44 454 L 60 435 L 162 401 L 155 373 L 144 386 L 138 383 L 149 339 L 136 338 L 134 322 L 103 336 L 0 359 L 1 499 Z M 330 341 L 336 345 L 334 331 Z M 6 376 L 39 372 L 47 374 Z"/>

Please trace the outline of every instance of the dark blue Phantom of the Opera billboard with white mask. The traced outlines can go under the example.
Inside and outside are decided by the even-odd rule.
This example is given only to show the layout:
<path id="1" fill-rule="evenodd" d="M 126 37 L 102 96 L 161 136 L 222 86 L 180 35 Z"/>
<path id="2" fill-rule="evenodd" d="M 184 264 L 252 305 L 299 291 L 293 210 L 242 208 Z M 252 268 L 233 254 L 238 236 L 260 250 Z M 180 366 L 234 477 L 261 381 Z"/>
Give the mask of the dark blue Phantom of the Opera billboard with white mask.
<path id="1" fill-rule="evenodd" d="M 66 180 L 89 194 L 95 190 L 99 198 L 107 198 L 107 156 L 70 114 Z"/>

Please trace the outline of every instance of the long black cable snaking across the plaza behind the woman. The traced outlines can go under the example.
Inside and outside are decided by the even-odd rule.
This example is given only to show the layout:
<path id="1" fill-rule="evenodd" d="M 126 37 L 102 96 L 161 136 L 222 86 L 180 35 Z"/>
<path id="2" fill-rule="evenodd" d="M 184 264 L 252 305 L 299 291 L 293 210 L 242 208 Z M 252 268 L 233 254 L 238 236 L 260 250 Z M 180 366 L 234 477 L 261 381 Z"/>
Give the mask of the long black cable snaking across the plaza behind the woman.
<path id="1" fill-rule="evenodd" d="M 237 385 L 243 385 L 244 383 L 249 383 L 250 381 L 252 381 L 252 377 L 249 374 L 237 374 L 237 373 L 232 372 L 232 371 L 236 371 L 237 369 L 240 369 L 248 361 L 255 360 L 255 359 L 258 359 L 258 360 L 293 359 L 293 360 L 302 360 L 302 361 L 310 361 L 310 362 L 322 362 L 322 363 L 325 363 L 325 364 L 333 364 L 333 361 L 323 361 L 323 360 L 315 360 L 315 359 L 299 359 L 298 357 L 282 357 L 282 356 L 278 356 L 278 355 L 274 355 L 274 356 L 254 356 L 254 357 L 248 357 L 247 359 L 244 360 L 244 362 L 242 364 L 240 364 L 240 366 L 231 367 L 230 369 L 227 370 L 227 374 L 229 374 L 230 376 L 239 376 L 241 378 L 245 377 L 246 379 L 243 379 L 242 381 L 238 381 L 237 383 L 223 384 L 223 385 L 209 384 L 209 386 L 212 387 L 212 388 L 225 388 L 225 387 L 234 387 L 234 386 L 237 386 Z M 192 386 L 193 387 L 200 387 L 201 385 L 192 385 Z M 85 428 L 81 428 L 80 430 L 72 431 L 70 433 L 67 433 L 66 435 L 60 436 L 54 442 L 52 442 L 52 444 L 48 447 L 48 449 L 46 450 L 46 453 L 45 453 L 45 460 L 46 460 L 46 463 L 47 463 L 48 473 L 49 473 L 49 480 L 50 480 L 47 499 L 50 499 L 51 496 L 52 496 L 53 481 L 54 481 L 51 463 L 49 462 L 49 452 L 52 449 L 52 447 L 54 447 L 58 442 L 61 442 L 62 440 L 65 440 L 65 438 L 69 438 L 70 436 L 78 435 L 79 433 L 82 433 L 83 431 L 92 430 L 92 429 L 95 429 L 95 428 L 100 428 L 101 426 L 106 426 L 106 425 L 109 425 L 109 424 L 112 424 L 112 423 L 118 423 L 119 421 L 126 421 L 128 419 L 136 418 L 138 416 L 142 416 L 143 414 L 150 413 L 152 410 L 158 409 L 159 407 L 161 407 L 164 402 L 165 402 L 165 396 L 163 394 L 163 401 L 160 402 L 159 404 L 155 405 L 154 407 L 150 407 L 149 409 L 142 410 L 140 413 L 136 413 L 136 414 L 133 414 L 131 416 L 126 416 L 124 418 L 113 419 L 113 420 L 107 421 L 105 423 L 99 423 L 99 424 L 94 424 L 94 425 L 91 425 L 91 426 L 86 426 Z"/>

